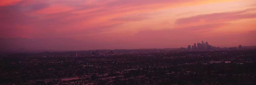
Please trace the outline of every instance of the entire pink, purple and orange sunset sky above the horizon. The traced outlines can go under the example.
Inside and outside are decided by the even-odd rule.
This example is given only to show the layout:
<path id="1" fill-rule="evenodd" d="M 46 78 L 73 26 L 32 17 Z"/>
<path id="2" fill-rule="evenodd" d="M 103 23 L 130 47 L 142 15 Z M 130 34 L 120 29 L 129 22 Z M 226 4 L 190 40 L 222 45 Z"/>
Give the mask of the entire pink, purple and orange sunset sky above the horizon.
<path id="1" fill-rule="evenodd" d="M 256 45 L 255 0 L 1 0 L 2 50 Z"/>

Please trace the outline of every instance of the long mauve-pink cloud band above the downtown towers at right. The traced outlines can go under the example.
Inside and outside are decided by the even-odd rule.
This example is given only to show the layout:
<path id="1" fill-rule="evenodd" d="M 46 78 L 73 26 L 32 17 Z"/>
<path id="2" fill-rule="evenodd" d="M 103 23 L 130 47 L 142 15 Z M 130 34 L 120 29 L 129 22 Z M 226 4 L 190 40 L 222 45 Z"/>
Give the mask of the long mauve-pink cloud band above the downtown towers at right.
<path id="1" fill-rule="evenodd" d="M 187 18 L 177 19 L 175 24 L 177 25 L 195 25 L 195 24 L 207 24 L 207 23 L 219 23 L 228 22 L 239 19 L 256 18 L 256 8 L 251 8 L 238 12 L 225 12 L 214 14 L 203 14 Z"/>

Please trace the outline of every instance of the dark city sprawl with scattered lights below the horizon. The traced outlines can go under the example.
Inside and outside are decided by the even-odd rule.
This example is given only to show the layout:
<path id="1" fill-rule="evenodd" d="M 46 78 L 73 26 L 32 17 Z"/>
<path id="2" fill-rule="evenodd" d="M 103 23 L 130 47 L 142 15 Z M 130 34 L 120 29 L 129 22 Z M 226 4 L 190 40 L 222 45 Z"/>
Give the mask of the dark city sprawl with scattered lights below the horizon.
<path id="1" fill-rule="evenodd" d="M 166 51 L 108 56 L 81 56 L 81 53 L 79 57 L 72 53 L 1 55 L 0 84 L 256 84 L 256 50 Z"/>

